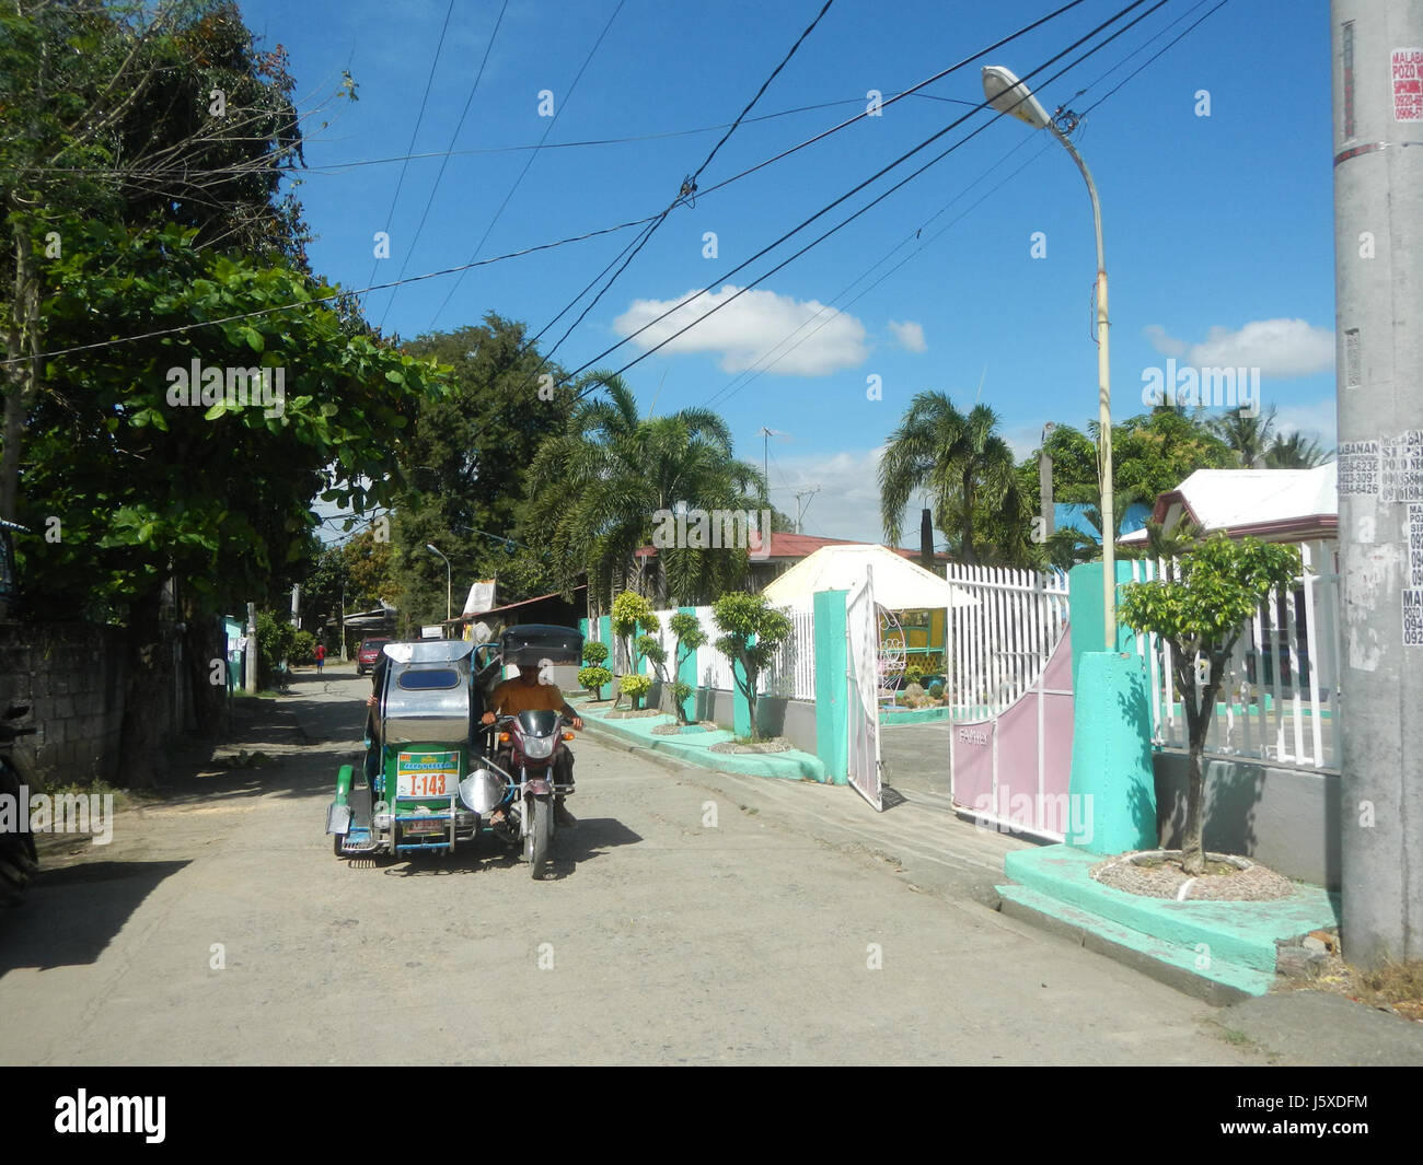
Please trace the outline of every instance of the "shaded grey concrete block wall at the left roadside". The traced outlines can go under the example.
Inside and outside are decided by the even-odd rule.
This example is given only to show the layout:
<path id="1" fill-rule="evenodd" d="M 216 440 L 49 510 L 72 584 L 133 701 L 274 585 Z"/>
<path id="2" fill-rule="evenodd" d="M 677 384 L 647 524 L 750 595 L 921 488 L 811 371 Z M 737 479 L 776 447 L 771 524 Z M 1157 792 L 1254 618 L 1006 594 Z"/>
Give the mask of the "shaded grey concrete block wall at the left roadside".
<path id="1" fill-rule="evenodd" d="M 117 627 L 0 623 L 0 711 L 40 731 L 14 751 L 47 785 L 112 781 L 124 723 L 124 644 Z"/>

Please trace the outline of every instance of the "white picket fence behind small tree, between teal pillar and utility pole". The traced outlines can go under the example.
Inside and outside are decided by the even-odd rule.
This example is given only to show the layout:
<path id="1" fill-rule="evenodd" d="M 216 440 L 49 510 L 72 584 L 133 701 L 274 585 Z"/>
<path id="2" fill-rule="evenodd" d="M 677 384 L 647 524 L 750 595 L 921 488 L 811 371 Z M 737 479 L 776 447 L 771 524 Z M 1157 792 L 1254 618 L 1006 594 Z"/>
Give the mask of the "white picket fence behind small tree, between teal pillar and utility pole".
<path id="1" fill-rule="evenodd" d="M 1235 642 L 1205 752 L 1286 767 L 1339 771 L 1339 575 L 1333 549 L 1301 542 L 1303 573 L 1272 592 Z M 1133 578 L 1157 579 L 1164 562 L 1133 562 Z M 1187 748 L 1185 707 L 1171 649 L 1137 636 L 1148 660 L 1153 740 Z M 1204 676 L 1195 677 L 1200 690 Z"/>

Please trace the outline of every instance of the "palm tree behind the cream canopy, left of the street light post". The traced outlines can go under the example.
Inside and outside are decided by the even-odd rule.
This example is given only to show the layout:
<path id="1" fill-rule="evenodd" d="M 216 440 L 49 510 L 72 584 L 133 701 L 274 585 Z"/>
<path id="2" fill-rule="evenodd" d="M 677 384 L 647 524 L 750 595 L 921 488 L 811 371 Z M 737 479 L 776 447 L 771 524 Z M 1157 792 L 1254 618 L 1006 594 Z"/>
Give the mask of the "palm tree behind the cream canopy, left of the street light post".
<path id="1" fill-rule="evenodd" d="M 909 496 L 922 489 L 933 502 L 935 525 L 963 562 L 1023 558 L 1027 522 L 1013 452 L 998 435 L 998 414 L 986 404 L 965 415 L 943 394 L 919 393 L 889 435 L 879 461 L 879 516 L 885 539 L 898 545 Z M 999 532 L 988 545 L 989 516 Z"/>

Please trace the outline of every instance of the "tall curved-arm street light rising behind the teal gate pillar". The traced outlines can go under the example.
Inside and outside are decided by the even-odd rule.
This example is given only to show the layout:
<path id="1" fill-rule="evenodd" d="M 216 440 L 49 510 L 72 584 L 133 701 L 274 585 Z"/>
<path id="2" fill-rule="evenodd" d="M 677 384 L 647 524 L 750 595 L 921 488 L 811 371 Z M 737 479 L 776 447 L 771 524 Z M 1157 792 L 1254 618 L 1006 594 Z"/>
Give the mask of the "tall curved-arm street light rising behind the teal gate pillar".
<path id="1" fill-rule="evenodd" d="M 1087 193 L 1091 195 L 1091 222 L 1097 232 L 1097 408 L 1099 428 L 1101 430 L 1097 444 L 1097 478 L 1101 488 L 1101 587 L 1107 650 L 1116 651 L 1117 546 L 1113 535 L 1117 523 L 1111 496 L 1111 364 L 1107 354 L 1107 260 L 1101 253 L 1101 203 L 1097 201 L 1097 183 L 1091 181 L 1091 171 L 1087 169 L 1087 164 L 1069 141 L 1067 134 L 1057 127 L 1057 122 L 1047 115 L 1027 85 L 1019 81 L 1010 70 L 1002 65 L 988 65 L 983 70 L 983 95 L 988 98 L 988 104 L 1000 114 L 1010 114 L 1035 129 L 1052 129 L 1063 149 L 1072 154 L 1077 169 L 1087 181 Z M 1066 114 L 1064 118 L 1072 129 L 1076 117 Z"/>

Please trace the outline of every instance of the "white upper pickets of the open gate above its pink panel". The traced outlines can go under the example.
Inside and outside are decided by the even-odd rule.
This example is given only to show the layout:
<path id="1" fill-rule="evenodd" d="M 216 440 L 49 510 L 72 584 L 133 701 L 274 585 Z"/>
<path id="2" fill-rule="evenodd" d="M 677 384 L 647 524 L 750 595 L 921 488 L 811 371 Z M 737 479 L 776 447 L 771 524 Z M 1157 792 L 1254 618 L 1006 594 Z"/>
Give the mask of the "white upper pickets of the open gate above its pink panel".
<path id="1" fill-rule="evenodd" d="M 949 612 L 951 716 L 992 716 L 1027 691 L 1062 639 L 1067 576 L 951 562 L 948 580 L 976 600 Z"/>

